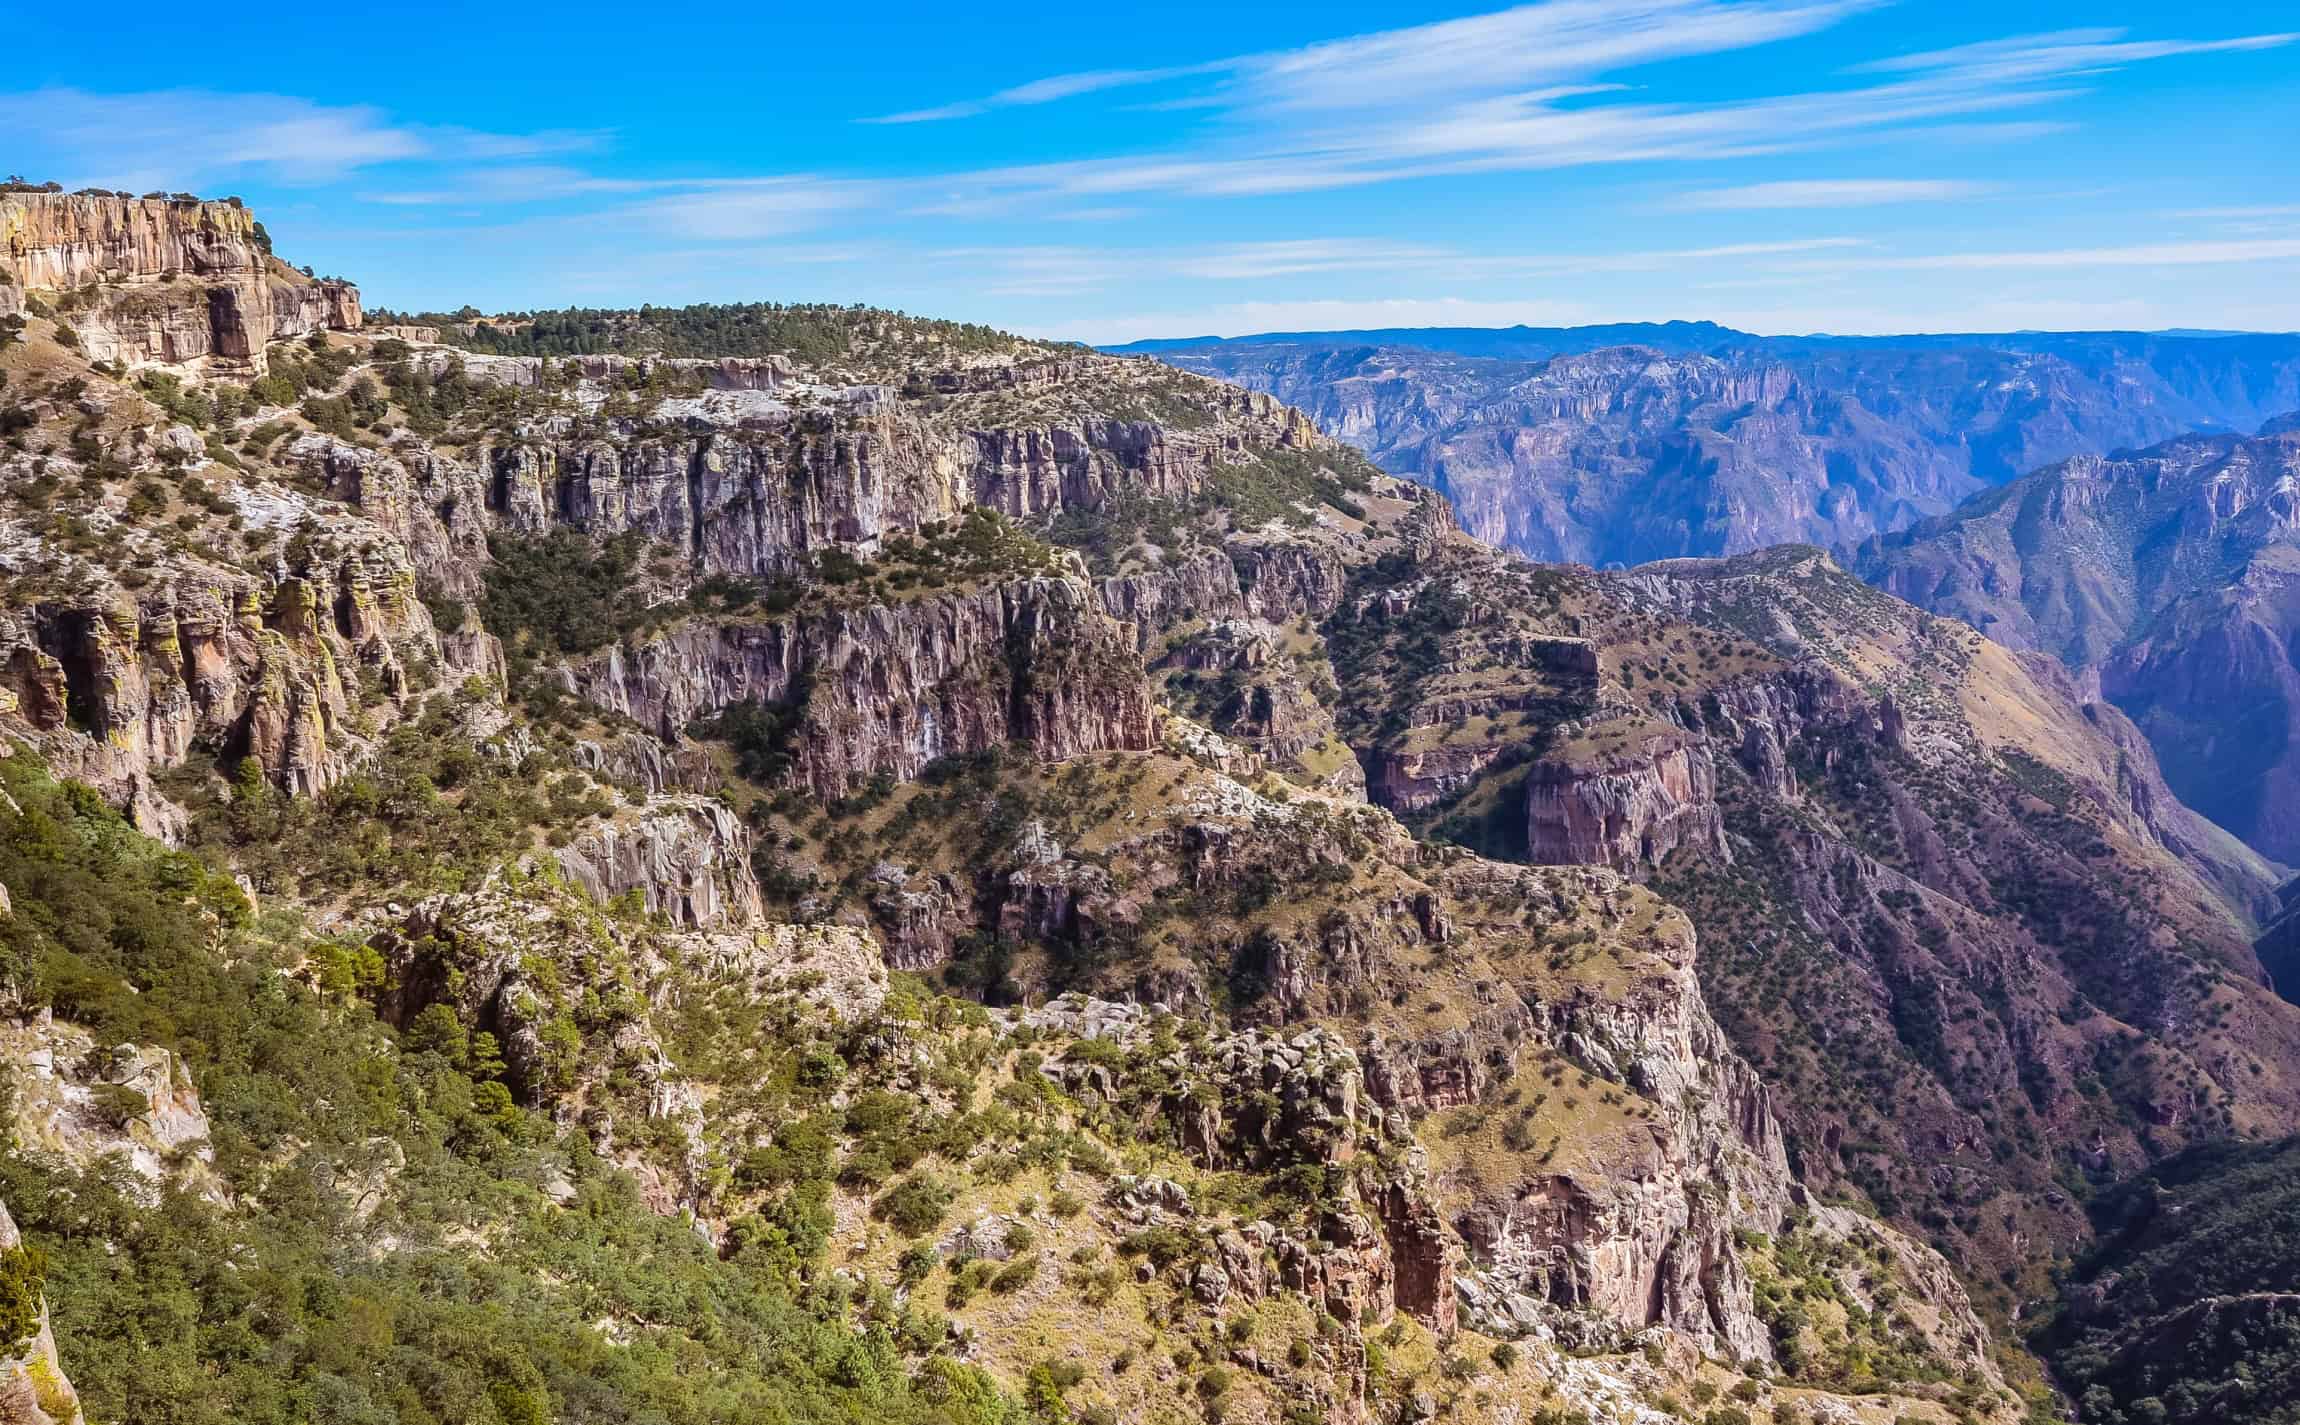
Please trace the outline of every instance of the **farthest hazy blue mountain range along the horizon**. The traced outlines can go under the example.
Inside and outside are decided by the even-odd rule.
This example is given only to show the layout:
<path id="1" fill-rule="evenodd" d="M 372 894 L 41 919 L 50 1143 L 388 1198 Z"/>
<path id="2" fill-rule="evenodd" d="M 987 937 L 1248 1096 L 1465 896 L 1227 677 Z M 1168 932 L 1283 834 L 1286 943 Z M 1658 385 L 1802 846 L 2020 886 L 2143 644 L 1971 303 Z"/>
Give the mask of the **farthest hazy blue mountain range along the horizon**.
<path id="1" fill-rule="evenodd" d="M 1159 342 L 1272 391 L 1470 533 L 1592 565 L 1849 549 L 2068 455 L 2252 430 L 2300 338 L 1757 338 L 1702 322 Z"/>

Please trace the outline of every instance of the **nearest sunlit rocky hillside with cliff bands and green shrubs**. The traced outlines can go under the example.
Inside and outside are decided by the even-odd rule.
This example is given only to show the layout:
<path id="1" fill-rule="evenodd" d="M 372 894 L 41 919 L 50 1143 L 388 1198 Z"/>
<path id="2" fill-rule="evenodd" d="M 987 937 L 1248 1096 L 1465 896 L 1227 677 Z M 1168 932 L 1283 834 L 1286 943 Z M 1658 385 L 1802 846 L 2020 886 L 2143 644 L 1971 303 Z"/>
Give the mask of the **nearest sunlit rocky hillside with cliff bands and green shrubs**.
<path id="1" fill-rule="evenodd" d="M 23 202 L 0 1326 L 92 1418 L 2017 1414 L 1679 910 L 1359 798 L 1490 556 L 1300 411 L 239 349 L 239 218 Z"/>

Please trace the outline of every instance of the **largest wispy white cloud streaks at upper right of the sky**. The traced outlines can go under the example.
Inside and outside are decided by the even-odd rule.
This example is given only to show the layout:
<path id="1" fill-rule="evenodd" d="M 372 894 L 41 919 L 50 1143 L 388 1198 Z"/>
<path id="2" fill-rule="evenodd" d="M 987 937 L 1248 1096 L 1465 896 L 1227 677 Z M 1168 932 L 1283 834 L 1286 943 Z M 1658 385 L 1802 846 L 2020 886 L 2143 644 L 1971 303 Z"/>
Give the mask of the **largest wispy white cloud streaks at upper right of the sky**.
<path id="1" fill-rule="evenodd" d="M 2006 142 L 2054 131 L 2001 117 L 2070 99 L 2104 69 L 2284 46 L 2293 34 L 2123 39 L 2111 30 L 2015 37 L 1861 67 L 1849 87 L 1665 103 L 1610 83 L 1640 62 L 1725 53 L 1826 28 L 1858 9 L 1792 0 L 1552 0 L 1191 67 L 1214 71 L 1214 138 L 1171 152 L 945 175 L 945 205 L 998 198 L 1283 195 L 1470 172 L 1725 161 L 1874 140 Z M 1042 103 L 1178 71 L 1095 71 L 1019 85 Z M 1366 97 L 1380 97 L 1368 103 Z M 973 101 L 989 103 L 989 101 Z M 1920 182 L 1920 179 L 1909 179 Z M 1847 191 L 1851 193 L 1851 191 Z M 1870 188 L 1868 200 L 1884 200 Z M 1916 200 L 1907 188 L 1893 200 Z M 1932 198 L 1946 193 L 1932 191 Z M 1833 202 L 1808 198 L 1808 205 Z"/>

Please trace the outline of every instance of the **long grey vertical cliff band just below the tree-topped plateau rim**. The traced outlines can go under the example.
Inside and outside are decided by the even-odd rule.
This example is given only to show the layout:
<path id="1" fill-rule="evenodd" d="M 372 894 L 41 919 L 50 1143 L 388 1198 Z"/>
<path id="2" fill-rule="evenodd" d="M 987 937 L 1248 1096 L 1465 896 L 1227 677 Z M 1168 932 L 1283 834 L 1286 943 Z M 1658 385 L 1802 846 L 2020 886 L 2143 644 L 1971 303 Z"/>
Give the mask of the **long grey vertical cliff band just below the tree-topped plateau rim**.
<path id="1" fill-rule="evenodd" d="M 536 386 L 536 363 L 425 354 L 481 384 Z M 557 363 L 554 363 L 557 365 Z M 575 363 L 582 368 L 582 363 Z M 419 441 L 386 453 L 306 437 L 292 460 L 340 499 L 407 540 L 444 584 L 476 591 L 488 529 L 534 536 L 573 526 L 610 538 L 639 533 L 676 549 L 702 575 L 784 575 L 823 549 L 874 552 L 890 536 L 989 508 L 1028 522 L 1090 510 L 1116 494 L 1187 499 L 1258 448 L 1313 439 L 1302 416 L 1267 395 L 1226 391 L 1198 425 L 1111 418 L 1056 400 L 1065 384 L 1092 388 L 1141 379 L 1141 363 L 1070 359 L 1028 384 L 1044 409 L 1028 423 L 991 400 L 952 398 L 922 409 L 885 386 L 826 386 L 731 363 L 593 361 L 584 382 L 619 372 L 674 372 L 706 382 L 702 395 L 658 400 L 649 416 L 522 421 L 485 432 L 469 457 Z M 1210 388 L 1212 391 L 1212 388 Z M 598 411 L 605 388 L 577 393 Z M 458 568 L 460 565 L 460 568 Z"/>

